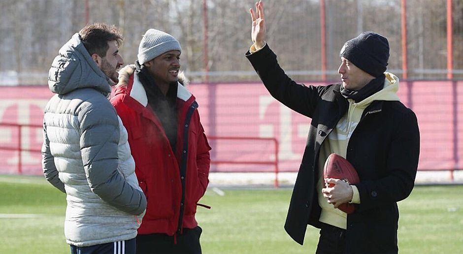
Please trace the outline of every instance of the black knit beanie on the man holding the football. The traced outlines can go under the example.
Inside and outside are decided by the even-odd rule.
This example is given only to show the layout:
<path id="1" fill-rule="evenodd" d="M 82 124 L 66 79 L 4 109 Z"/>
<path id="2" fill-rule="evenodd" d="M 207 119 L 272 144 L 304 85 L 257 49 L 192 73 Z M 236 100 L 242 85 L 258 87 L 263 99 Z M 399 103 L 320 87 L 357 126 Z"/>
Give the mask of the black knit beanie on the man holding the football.
<path id="1" fill-rule="evenodd" d="M 366 73 L 379 77 L 388 66 L 389 42 L 386 37 L 376 32 L 362 32 L 344 43 L 339 56 Z"/>

